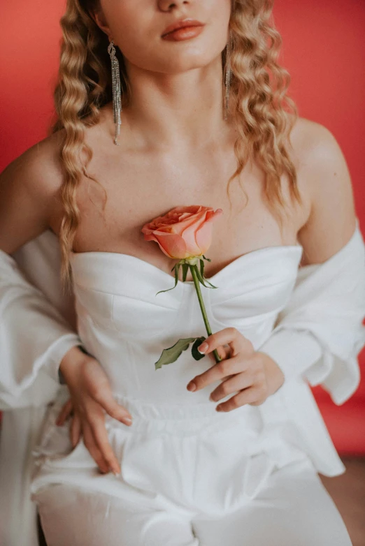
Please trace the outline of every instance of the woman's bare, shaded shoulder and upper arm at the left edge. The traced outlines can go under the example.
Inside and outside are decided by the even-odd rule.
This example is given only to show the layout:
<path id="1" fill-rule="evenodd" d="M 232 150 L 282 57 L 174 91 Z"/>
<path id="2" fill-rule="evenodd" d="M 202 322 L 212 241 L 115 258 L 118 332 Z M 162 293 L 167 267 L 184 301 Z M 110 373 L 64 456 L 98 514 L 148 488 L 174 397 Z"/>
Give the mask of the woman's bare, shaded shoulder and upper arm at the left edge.
<path id="1" fill-rule="evenodd" d="M 0 174 L 0 248 L 14 252 L 50 226 L 63 176 L 60 134 L 31 146 Z"/>

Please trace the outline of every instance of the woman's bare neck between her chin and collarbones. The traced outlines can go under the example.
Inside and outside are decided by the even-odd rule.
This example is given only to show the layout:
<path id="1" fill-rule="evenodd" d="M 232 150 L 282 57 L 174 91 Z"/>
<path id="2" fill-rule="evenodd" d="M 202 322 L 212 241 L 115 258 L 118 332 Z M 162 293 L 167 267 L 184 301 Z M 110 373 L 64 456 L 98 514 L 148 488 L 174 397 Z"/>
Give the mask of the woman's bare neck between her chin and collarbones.
<path id="1" fill-rule="evenodd" d="M 122 128 L 138 147 L 199 148 L 222 137 L 222 62 L 178 74 L 152 73 L 127 64 L 131 101 Z M 124 133 L 125 134 L 125 133 Z"/>

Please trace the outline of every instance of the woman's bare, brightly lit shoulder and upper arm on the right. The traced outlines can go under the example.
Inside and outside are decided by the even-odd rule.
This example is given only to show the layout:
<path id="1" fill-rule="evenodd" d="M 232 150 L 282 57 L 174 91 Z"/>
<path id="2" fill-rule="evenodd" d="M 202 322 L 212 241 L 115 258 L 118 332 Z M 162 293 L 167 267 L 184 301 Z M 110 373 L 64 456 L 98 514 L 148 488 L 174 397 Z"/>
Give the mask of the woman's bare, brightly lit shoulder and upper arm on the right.
<path id="1" fill-rule="evenodd" d="M 300 191 L 310 207 L 298 239 L 303 262 L 322 263 L 354 233 L 356 212 L 352 180 L 335 136 L 322 124 L 300 117 L 291 133 Z"/>

